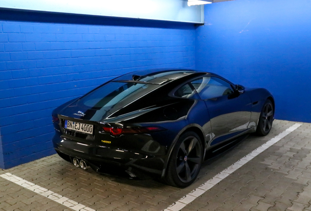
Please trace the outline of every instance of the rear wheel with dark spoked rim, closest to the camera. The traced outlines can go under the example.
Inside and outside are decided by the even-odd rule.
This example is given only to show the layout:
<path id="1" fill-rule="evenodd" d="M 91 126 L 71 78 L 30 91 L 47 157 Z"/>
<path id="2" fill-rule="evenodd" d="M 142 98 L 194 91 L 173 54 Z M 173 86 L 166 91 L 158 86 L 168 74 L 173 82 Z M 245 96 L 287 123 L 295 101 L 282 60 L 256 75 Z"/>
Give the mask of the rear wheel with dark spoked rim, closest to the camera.
<path id="1" fill-rule="evenodd" d="M 166 171 L 166 182 L 178 188 L 191 185 L 197 178 L 203 157 L 202 143 L 197 133 L 183 133 L 173 149 Z"/>

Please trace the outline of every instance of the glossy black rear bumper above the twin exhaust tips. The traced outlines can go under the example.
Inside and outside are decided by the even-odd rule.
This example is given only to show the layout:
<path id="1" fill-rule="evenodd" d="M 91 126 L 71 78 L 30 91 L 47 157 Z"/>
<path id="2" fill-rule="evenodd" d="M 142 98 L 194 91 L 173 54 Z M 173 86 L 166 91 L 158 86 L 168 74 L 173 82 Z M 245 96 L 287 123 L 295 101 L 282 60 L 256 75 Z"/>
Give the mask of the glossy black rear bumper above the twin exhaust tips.
<path id="1" fill-rule="evenodd" d="M 72 163 L 73 158 L 83 159 L 94 170 L 128 176 L 131 172 L 136 177 L 161 177 L 166 156 L 133 152 L 119 148 L 109 148 L 77 141 L 55 135 L 53 146 L 56 152 Z M 123 175 L 124 174 L 124 175 Z"/>

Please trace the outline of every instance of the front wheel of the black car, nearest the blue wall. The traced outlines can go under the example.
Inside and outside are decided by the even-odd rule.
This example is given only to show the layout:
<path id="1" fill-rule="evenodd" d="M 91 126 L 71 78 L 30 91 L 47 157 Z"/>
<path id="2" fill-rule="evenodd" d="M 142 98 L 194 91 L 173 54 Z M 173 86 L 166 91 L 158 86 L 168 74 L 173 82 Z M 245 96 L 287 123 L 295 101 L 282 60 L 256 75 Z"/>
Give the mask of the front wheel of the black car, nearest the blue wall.
<path id="1" fill-rule="evenodd" d="M 263 108 L 261 109 L 258 126 L 256 129 L 257 135 L 265 136 L 270 132 L 273 122 L 273 116 L 273 104 L 269 99 L 267 99 Z"/>

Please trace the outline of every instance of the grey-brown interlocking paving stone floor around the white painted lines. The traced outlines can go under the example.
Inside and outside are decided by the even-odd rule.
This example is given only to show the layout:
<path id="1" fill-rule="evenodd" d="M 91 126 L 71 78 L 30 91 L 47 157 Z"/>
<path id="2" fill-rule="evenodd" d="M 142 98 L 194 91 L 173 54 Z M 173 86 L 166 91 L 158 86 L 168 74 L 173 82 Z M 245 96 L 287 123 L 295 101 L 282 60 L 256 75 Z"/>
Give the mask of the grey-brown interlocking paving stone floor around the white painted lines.
<path id="1" fill-rule="evenodd" d="M 58 155 L 0 169 L 0 174 L 11 173 L 96 211 L 162 211 L 294 124 L 275 120 L 267 136 L 250 135 L 207 160 L 185 189 L 75 168 Z M 0 177 L 0 211 L 72 210 Z M 182 211 L 311 211 L 311 124 L 303 123 Z"/>

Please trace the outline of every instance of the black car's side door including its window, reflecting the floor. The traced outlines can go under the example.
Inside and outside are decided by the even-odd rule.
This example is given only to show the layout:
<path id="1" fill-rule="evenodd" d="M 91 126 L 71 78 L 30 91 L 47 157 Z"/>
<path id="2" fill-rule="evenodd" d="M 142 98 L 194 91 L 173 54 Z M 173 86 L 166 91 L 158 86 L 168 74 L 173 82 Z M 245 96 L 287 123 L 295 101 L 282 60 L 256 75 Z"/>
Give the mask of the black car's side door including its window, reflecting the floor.
<path id="1" fill-rule="evenodd" d="M 191 82 L 207 107 L 213 141 L 227 140 L 247 129 L 251 116 L 251 99 L 239 93 L 219 77 L 205 76 Z"/>

